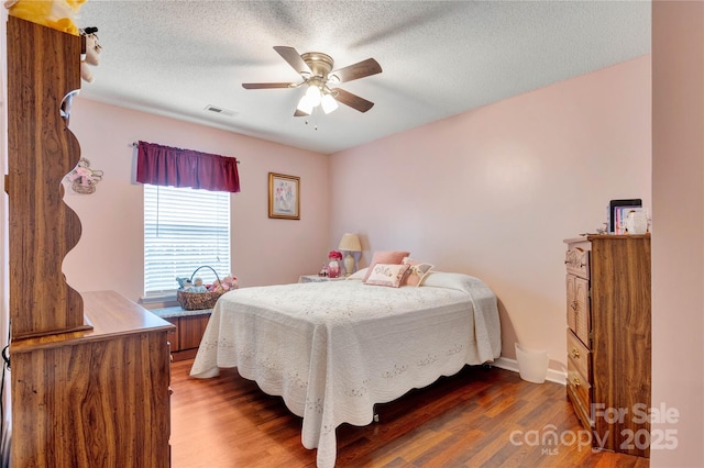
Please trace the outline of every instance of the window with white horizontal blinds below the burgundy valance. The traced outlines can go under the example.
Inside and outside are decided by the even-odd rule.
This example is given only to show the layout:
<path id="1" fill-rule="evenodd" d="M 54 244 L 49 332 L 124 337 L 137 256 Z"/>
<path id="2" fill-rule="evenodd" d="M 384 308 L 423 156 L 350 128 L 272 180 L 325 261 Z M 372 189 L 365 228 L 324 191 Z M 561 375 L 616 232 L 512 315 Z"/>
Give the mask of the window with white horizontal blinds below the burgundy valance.
<path id="1" fill-rule="evenodd" d="M 212 267 L 229 275 L 230 193 L 144 185 L 144 294 L 166 296 L 178 289 L 176 277 Z M 202 268 L 196 277 L 211 283 Z"/>

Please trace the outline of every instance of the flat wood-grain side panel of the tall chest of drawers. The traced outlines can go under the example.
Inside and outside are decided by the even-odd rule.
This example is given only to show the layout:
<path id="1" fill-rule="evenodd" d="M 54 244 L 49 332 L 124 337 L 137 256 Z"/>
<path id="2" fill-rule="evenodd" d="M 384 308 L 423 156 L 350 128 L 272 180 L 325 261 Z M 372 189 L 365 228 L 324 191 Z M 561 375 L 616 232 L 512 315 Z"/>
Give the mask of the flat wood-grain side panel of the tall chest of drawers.
<path id="1" fill-rule="evenodd" d="M 627 441 L 650 424 L 638 423 L 634 410 L 650 408 L 650 237 L 597 236 L 592 242 L 594 330 L 594 401 L 626 412 L 623 419 L 596 417 L 606 447 L 649 456 Z M 626 447 L 626 448 L 624 448 Z"/>

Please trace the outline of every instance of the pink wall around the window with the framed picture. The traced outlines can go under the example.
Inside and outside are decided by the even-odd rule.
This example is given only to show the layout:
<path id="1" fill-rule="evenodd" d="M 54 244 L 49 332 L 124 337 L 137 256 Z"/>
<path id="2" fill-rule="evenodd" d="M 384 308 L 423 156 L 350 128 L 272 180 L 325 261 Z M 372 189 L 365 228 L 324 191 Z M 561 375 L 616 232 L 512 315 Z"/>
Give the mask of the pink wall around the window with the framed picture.
<path id="1" fill-rule="evenodd" d="M 140 140 L 241 160 L 242 191 L 232 196 L 232 269 L 241 286 L 294 282 L 320 268 L 329 248 L 326 156 L 80 97 L 70 130 L 82 157 L 105 171 L 95 193 L 65 197 L 82 224 L 64 260 L 76 290 L 112 289 L 132 300 L 143 293 L 142 186 L 132 183 L 132 142 Z M 268 218 L 270 171 L 300 177 L 300 221 Z"/>

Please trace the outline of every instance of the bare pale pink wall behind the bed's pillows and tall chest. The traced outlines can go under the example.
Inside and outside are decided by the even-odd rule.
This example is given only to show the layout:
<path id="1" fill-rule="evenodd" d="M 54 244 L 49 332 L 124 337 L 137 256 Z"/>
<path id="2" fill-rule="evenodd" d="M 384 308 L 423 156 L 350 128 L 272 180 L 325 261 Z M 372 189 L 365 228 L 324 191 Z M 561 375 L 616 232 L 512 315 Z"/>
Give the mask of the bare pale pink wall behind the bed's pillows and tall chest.
<path id="1" fill-rule="evenodd" d="M 595 232 L 610 199 L 651 205 L 650 57 L 331 157 L 331 238 L 408 249 L 483 278 L 514 343 L 565 365 L 563 239 Z"/>

